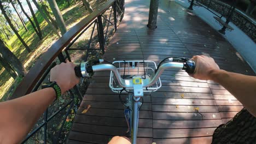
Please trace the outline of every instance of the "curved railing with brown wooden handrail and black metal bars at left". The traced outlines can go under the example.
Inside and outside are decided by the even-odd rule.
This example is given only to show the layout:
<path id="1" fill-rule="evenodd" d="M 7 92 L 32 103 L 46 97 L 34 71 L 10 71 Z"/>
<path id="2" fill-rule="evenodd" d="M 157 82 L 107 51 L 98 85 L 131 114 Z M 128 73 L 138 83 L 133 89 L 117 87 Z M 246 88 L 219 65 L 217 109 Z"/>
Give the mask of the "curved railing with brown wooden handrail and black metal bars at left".
<path id="1" fill-rule="evenodd" d="M 13 97 L 22 97 L 25 94 L 37 91 L 44 81 L 49 80 L 50 69 L 57 63 L 72 61 L 71 51 L 84 51 L 85 61 L 91 55 L 100 55 L 104 53 L 106 43 L 109 36 L 117 31 L 119 22 L 124 16 L 124 0 L 109 0 L 100 8 L 97 8 L 85 19 L 73 26 L 60 39 L 56 41 L 43 56 L 34 64 L 24 80 L 16 88 Z M 75 47 L 77 40 L 82 35 L 90 33 L 90 39 L 84 47 Z M 79 86 L 79 85 L 78 85 Z M 44 114 L 40 117 L 37 124 L 26 136 L 22 143 L 31 143 L 32 137 L 40 134 L 36 141 L 39 143 L 59 143 L 62 129 L 65 126 L 66 119 L 74 107 L 82 101 L 83 95 L 79 91 L 79 87 L 75 86 L 67 92 L 66 101 L 58 99 L 48 107 Z M 76 110 L 76 109 L 74 109 Z M 61 118 L 58 118 L 61 117 Z M 51 122 L 57 121 L 57 125 L 49 127 Z M 51 133 L 51 135 L 49 135 Z M 61 141 L 62 143 L 63 141 Z M 32 142 L 34 143 L 34 142 Z"/>

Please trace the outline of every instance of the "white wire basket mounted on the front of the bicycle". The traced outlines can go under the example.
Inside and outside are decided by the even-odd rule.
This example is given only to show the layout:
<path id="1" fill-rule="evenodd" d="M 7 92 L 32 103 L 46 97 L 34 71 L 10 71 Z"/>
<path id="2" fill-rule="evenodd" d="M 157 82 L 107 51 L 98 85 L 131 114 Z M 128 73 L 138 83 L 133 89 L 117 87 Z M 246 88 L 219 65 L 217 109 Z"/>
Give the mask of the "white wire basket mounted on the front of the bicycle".
<path id="1" fill-rule="evenodd" d="M 156 70 L 156 64 L 153 61 L 115 61 L 113 62 L 117 67 L 119 75 L 124 80 L 132 83 L 132 77 L 141 77 L 144 83 L 153 79 Z M 109 87 L 113 92 L 119 93 L 123 87 L 120 87 L 114 73 L 110 72 Z M 143 92 L 154 92 L 161 87 L 161 80 L 158 78 L 156 82 L 150 87 L 143 87 Z M 133 87 L 125 88 L 126 91 L 133 91 Z M 122 91 L 125 92 L 125 91 Z"/>

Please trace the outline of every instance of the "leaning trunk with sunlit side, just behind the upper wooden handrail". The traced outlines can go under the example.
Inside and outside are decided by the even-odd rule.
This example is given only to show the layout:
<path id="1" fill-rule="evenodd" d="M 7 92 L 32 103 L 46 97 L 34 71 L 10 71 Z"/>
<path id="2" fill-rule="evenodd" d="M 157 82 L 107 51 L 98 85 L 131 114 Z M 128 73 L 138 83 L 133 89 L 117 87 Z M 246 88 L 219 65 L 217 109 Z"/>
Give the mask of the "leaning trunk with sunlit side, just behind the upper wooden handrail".
<path id="1" fill-rule="evenodd" d="M 63 35 L 67 32 L 67 28 L 66 28 L 65 22 L 63 20 L 62 14 L 60 12 L 60 9 L 55 0 L 48 0 L 48 2 L 50 4 L 51 10 L 53 11 L 53 14 L 55 16 L 57 25 L 60 27 L 61 34 Z"/>

